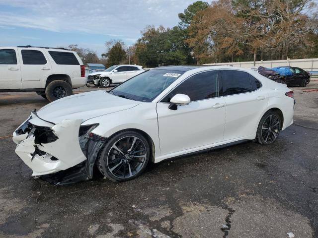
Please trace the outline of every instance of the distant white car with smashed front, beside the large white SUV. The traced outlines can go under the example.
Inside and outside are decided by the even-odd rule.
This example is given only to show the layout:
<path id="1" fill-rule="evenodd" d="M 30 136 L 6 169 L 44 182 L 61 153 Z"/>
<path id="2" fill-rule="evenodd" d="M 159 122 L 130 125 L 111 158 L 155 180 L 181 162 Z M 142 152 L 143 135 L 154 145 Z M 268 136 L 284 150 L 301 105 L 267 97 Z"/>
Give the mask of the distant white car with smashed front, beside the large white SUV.
<path id="1" fill-rule="evenodd" d="M 142 72 L 145 72 L 145 70 L 143 66 L 140 65 L 113 65 L 104 71 L 89 74 L 87 77 L 87 86 L 94 84 L 106 88 L 109 87 L 110 84 L 125 82 Z"/>

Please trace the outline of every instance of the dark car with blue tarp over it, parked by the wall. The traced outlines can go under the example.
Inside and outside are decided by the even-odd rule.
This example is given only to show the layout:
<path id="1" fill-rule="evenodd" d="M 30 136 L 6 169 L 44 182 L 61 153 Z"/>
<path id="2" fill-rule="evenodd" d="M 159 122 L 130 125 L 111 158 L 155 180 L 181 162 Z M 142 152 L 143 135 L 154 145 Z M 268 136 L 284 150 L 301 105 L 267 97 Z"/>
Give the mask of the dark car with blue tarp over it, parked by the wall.
<path id="1" fill-rule="evenodd" d="M 271 68 L 284 76 L 287 86 L 300 85 L 306 87 L 310 82 L 310 73 L 299 67 L 280 66 Z"/>

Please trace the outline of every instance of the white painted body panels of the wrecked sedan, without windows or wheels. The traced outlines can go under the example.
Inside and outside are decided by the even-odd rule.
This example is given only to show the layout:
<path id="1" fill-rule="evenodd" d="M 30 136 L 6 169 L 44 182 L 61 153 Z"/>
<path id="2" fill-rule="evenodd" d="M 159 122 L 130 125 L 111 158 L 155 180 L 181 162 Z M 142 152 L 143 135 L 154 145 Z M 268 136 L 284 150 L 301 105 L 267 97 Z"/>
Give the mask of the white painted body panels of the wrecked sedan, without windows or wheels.
<path id="1" fill-rule="evenodd" d="M 245 71 L 257 78 L 262 87 L 256 91 L 190 102 L 168 109 L 169 103 L 160 100 L 174 87 L 193 74 L 207 70 L 232 69 Z M 210 66 L 189 70 L 175 80 L 152 102 L 138 102 L 93 91 L 73 95 L 48 104 L 37 112 L 35 125 L 51 126 L 58 140 L 38 145 L 38 148 L 59 160 L 47 163 L 47 156 L 30 162 L 34 140 L 14 134 L 19 143 L 16 153 L 33 170 L 33 175 L 54 173 L 73 167 L 86 158 L 79 147 L 79 125 L 99 123 L 93 133 L 110 137 L 124 129 L 139 129 L 147 133 L 155 146 L 155 162 L 203 149 L 255 138 L 261 117 L 271 108 L 284 116 L 282 129 L 293 123 L 294 100 L 285 96 L 290 91 L 256 71 L 237 67 Z M 262 97 L 264 100 L 257 100 Z M 221 106 L 220 106 L 221 105 Z M 52 124 L 43 121 L 51 121 Z M 23 140 L 24 139 L 24 140 Z M 58 164 L 59 163 L 59 164 Z"/>

